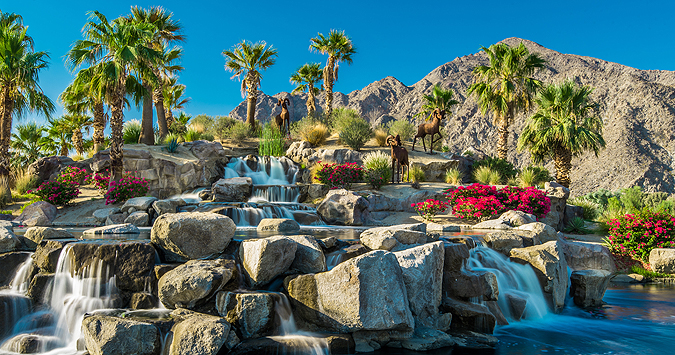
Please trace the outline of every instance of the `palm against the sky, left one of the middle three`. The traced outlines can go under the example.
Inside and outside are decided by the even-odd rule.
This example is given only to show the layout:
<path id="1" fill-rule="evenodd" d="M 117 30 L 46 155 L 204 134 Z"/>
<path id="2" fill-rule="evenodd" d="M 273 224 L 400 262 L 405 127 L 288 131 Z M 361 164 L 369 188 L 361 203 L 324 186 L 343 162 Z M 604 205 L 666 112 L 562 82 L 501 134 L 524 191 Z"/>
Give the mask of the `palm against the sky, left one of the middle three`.
<path id="1" fill-rule="evenodd" d="M 225 70 L 234 73 L 232 79 L 241 80 L 241 96 L 247 98 L 246 123 L 251 128 L 255 126 L 255 104 L 258 100 L 258 88 L 262 79 L 261 70 L 274 65 L 278 57 L 276 48 L 267 43 L 251 44 L 247 41 L 237 43 L 231 50 L 223 51 L 225 56 Z M 243 79 L 241 79 L 243 75 Z"/>

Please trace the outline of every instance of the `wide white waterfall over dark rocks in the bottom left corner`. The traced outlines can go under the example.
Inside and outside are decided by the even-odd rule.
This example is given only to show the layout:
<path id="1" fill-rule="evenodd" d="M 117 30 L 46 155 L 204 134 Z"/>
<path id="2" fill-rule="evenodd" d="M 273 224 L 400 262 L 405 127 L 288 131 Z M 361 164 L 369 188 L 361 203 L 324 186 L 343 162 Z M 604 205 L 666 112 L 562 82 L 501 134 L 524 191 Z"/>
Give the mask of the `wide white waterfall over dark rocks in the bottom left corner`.
<path id="1" fill-rule="evenodd" d="M 76 354 L 84 314 L 110 308 L 117 292 L 115 276 L 102 261 L 78 272 L 68 244 L 59 256 L 51 292 L 45 295 L 49 309 L 12 322 L 15 326 L 0 349 L 16 352 L 21 339 L 30 337 L 39 344 L 38 353 Z"/>

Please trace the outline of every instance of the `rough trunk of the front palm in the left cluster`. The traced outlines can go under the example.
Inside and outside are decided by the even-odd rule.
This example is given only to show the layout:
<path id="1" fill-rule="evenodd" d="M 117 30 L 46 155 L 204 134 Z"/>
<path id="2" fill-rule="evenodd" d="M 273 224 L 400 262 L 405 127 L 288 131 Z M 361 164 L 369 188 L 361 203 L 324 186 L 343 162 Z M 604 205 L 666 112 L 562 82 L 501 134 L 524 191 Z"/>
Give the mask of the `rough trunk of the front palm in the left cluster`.
<path id="1" fill-rule="evenodd" d="M 124 170 L 124 152 L 122 151 L 122 125 L 124 123 L 124 83 L 126 75 L 120 79 L 120 88 L 113 89 L 110 102 L 110 183 L 119 181 Z"/>

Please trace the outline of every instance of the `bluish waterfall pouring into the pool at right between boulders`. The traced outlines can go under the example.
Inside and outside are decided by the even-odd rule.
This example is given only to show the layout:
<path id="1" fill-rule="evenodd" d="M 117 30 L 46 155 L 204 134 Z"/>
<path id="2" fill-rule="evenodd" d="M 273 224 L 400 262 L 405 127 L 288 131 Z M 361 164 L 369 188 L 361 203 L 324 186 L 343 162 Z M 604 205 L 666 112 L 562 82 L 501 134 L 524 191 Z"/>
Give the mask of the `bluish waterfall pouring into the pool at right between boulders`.
<path id="1" fill-rule="evenodd" d="M 539 279 L 529 265 L 510 261 L 506 256 L 484 246 L 471 249 L 466 267 L 472 271 L 489 271 L 497 276 L 499 298 L 497 304 L 510 321 L 540 319 L 549 313 Z M 524 312 L 514 312 L 514 299 L 525 301 Z M 516 314 L 518 313 L 518 314 Z"/>

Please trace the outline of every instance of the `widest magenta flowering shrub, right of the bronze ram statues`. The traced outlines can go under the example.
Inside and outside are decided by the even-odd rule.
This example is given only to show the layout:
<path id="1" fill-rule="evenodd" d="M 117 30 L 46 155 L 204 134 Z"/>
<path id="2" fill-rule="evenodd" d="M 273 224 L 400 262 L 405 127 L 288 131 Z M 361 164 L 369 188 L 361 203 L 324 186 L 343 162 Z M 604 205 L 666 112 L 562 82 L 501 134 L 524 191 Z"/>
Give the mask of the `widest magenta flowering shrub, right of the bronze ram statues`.
<path id="1" fill-rule="evenodd" d="M 506 211 L 531 213 L 537 219 L 551 210 L 551 200 L 534 187 L 494 186 L 473 184 L 453 187 L 445 191 L 452 212 L 459 218 L 486 220 Z"/>

